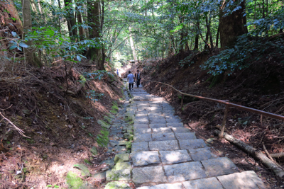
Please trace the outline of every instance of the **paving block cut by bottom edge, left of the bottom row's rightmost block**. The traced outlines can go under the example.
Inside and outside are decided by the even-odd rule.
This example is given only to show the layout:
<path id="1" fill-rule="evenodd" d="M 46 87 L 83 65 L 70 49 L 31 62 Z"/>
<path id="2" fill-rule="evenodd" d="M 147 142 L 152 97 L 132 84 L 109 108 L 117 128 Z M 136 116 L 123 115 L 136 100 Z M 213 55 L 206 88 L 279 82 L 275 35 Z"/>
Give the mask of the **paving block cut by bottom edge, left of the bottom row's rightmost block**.
<path id="1" fill-rule="evenodd" d="M 223 189 L 222 184 L 217 181 L 216 177 L 187 181 L 182 184 L 185 189 Z"/>

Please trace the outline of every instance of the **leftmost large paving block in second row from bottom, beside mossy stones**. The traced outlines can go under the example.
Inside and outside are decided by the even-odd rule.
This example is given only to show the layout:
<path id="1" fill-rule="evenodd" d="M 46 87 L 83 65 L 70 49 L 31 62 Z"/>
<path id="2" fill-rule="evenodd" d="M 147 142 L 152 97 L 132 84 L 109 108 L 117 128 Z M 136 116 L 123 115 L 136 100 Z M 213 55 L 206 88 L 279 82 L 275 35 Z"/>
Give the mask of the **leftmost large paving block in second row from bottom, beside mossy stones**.
<path id="1" fill-rule="evenodd" d="M 143 168 L 133 168 L 132 170 L 132 181 L 136 185 L 142 183 L 165 183 L 165 173 L 162 166 L 150 166 Z"/>

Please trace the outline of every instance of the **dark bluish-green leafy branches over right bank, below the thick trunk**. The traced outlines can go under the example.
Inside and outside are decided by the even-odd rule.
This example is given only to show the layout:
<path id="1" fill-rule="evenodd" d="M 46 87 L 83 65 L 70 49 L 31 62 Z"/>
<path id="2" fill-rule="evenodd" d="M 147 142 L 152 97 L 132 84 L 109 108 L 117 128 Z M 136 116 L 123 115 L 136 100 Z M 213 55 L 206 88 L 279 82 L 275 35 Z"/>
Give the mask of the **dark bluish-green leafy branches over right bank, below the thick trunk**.
<path id="1" fill-rule="evenodd" d="M 210 57 L 200 67 L 209 69 L 209 74 L 231 75 L 236 70 L 246 69 L 258 61 L 275 60 L 284 63 L 284 39 L 253 38 L 241 35 L 234 48 L 226 49 Z"/>

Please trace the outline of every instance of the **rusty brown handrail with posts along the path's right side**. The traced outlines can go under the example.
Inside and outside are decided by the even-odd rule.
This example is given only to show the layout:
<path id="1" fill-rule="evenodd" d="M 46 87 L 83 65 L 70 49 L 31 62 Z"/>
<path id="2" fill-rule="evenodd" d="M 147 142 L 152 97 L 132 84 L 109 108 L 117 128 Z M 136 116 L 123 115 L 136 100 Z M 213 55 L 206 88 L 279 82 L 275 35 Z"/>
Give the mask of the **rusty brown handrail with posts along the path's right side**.
<path id="1" fill-rule="evenodd" d="M 271 117 L 271 118 L 275 118 L 275 119 L 278 119 L 278 120 L 284 120 L 284 116 L 283 115 L 278 115 L 278 114 L 274 114 L 274 113 L 268 113 L 268 112 L 265 112 L 265 111 L 262 111 L 262 110 L 249 108 L 249 107 L 246 107 L 244 105 L 230 103 L 228 100 L 219 100 L 219 99 L 214 99 L 214 98 L 207 98 L 207 97 L 204 97 L 204 96 L 195 96 L 195 95 L 188 94 L 188 93 L 182 93 L 182 91 L 179 91 L 177 88 L 175 88 L 175 87 L 173 87 L 173 86 L 171 86 L 169 84 L 165 84 L 165 83 L 159 82 L 159 81 L 151 81 L 151 80 L 146 80 L 146 79 L 144 79 L 144 81 L 154 82 L 154 83 L 157 83 L 157 84 L 163 84 L 165 86 L 169 86 L 170 88 L 172 88 L 172 90 L 175 90 L 178 93 L 180 93 L 182 95 L 181 105 L 180 105 L 181 108 L 182 108 L 182 105 L 183 105 L 183 98 L 184 98 L 184 96 L 190 96 L 190 97 L 193 97 L 193 98 L 199 98 L 201 100 L 212 101 L 212 102 L 215 102 L 215 103 L 222 103 L 222 104 L 226 105 L 226 108 L 225 108 L 225 111 L 224 111 L 224 118 L 223 118 L 223 122 L 222 122 L 222 127 L 221 127 L 221 132 L 219 134 L 219 137 L 223 137 L 224 130 L 225 130 L 225 125 L 226 125 L 226 116 L 228 115 L 229 107 L 239 108 L 241 110 L 246 110 L 246 111 L 249 111 L 251 113 L 258 113 L 260 115 L 265 115 L 265 116 L 268 116 L 268 117 Z M 173 100 L 173 91 L 172 91 L 172 100 Z"/>

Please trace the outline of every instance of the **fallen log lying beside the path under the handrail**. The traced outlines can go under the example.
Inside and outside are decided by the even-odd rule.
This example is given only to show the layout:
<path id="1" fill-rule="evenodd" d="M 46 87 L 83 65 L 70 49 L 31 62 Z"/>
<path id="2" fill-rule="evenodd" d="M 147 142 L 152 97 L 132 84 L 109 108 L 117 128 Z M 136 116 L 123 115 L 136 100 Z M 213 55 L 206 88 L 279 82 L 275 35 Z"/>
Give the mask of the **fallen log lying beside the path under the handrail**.
<path id="1" fill-rule="evenodd" d="M 214 134 L 219 135 L 219 131 L 215 130 Z M 283 169 L 280 168 L 279 166 L 277 166 L 273 161 L 271 161 L 271 159 L 268 159 L 268 157 L 265 154 L 263 154 L 260 150 L 255 149 L 255 148 L 249 146 L 248 144 L 242 142 L 241 140 L 236 139 L 236 138 L 234 138 L 231 135 L 226 134 L 226 133 L 224 133 L 224 139 L 226 139 L 227 141 L 236 145 L 240 149 L 246 151 L 246 153 L 249 153 L 251 156 L 253 156 L 258 161 L 261 161 L 261 163 L 264 166 L 271 168 L 271 170 L 275 173 L 276 176 L 278 176 L 280 178 L 284 178 Z"/>

